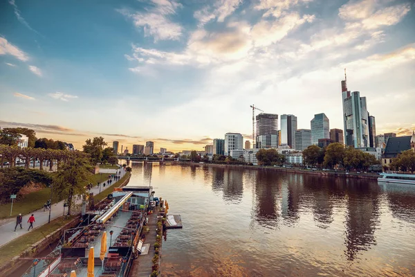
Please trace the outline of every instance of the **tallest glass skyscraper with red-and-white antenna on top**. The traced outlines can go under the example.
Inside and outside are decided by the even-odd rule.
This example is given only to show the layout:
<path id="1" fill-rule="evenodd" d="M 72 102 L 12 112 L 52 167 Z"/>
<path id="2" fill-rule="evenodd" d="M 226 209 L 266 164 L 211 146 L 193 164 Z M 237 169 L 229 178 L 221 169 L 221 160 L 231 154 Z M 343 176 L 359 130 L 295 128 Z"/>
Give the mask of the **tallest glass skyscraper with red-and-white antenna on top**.
<path id="1" fill-rule="evenodd" d="M 342 80 L 344 143 L 354 148 L 369 145 L 369 127 L 366 98 L 359 91 L 347 90 L 347 78 Z"/>

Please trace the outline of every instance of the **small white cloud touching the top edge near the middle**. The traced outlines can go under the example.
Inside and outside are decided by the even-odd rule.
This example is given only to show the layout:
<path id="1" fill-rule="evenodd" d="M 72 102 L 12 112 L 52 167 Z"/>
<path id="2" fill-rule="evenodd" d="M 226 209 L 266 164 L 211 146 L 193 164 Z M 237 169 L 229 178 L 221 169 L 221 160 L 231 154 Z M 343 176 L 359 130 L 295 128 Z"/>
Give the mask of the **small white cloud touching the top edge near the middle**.
<path id="1" fill-rule="evenodd" d="M 205 6 L 201 10 L 196 10 L 193 16 L 199 20 L 199 26 L 203 26 L 209 21 L 216 19 L 219 22 L 225 21 L 225 18 L 232 15 L 242 0 L 216 0 L 213 5 Z"/>

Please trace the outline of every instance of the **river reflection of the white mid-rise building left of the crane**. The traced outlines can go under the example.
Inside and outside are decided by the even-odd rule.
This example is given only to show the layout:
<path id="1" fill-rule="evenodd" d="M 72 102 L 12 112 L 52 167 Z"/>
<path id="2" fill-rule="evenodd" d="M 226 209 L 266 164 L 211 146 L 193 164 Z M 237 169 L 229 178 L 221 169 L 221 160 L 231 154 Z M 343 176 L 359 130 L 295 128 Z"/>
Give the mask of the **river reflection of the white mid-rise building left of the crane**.
<path id="1" fill-rule="evenodd" d="M 240 202 L 243 197 L 243 170 L 225 169 L 223 172 L 223 199 Z"/>

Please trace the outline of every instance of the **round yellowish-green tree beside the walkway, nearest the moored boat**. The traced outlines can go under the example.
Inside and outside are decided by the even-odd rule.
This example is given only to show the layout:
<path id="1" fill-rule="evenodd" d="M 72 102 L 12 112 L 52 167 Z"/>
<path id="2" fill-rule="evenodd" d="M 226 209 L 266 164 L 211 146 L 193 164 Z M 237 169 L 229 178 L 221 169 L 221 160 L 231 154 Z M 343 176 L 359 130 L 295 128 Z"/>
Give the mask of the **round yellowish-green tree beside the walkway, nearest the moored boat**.
<path id="1" fill-rule="evenodd" d="M 91 182 L 91 164 L 86 159 L 72 159 L 58 168 L 53 177 L 53 194 L 59 199 L 66 199 L 68 215 L 76 197 L 87 195 L 85 184 Z"/>

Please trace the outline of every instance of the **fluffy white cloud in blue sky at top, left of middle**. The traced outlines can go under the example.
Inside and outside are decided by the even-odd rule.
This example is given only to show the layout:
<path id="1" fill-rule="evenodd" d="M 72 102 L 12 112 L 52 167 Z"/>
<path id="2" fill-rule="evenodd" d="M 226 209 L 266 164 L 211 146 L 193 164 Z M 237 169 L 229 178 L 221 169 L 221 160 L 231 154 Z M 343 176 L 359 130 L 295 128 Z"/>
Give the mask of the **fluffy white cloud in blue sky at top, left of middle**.
<path id="1" fill-rule="evenodd" d="M 125 17 L 132 19 L 136 27 L 143 28 L 145 36 L 158 40 L 178 40 L 183 33 L 181 25 L 171 21 L 168 16 L 174 15 L 181 3 L 168 0 L 153 0 L 153 8 L 149 12 L 131 12 L 126 9 L 117 10 Z"/>

